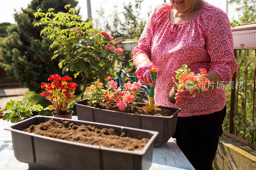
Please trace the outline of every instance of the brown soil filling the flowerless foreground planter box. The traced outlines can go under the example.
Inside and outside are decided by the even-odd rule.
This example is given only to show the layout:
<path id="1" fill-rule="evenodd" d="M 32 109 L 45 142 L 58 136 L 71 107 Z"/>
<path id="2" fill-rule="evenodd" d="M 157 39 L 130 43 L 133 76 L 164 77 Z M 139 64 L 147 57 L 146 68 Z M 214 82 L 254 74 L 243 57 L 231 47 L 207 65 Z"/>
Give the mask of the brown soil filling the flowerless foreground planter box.
<path id="1" fill-rule="evenodd" d="M 142 150 L 149 140 L 147 138 L 132 138 L 129 134 L 124 132 L 121 135 L 118 135 L 115 129 L 99 129 L 95 126 L 85 126 L 83 124 L 77 126 L 68 121 L 59 123 L 53 119 L 38 125 L 31 125 L 23 131 L 83 144 L 130 151 Z"/>

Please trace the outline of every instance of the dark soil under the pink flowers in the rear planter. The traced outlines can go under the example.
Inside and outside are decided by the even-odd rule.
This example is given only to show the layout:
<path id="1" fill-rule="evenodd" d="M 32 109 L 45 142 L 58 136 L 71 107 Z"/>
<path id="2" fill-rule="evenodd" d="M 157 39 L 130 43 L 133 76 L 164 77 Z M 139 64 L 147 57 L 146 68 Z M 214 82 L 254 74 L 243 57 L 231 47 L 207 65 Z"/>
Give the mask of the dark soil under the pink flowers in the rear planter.
<path id="1" fill-rule="evenodd" d="M 86 106 L 92 106 L 90 103 L 86 102 Z M 112 110 L 112 111 L 117 111 L 117 112 L 124 112 L 124 113 L 133 113 L 133 114 L 142 114 L 142 115 L 153 115 L 153 116 L 171 116 L 173 112 L 167 109 L 161 109 L 161 108 L 156 108 L 150 112 L 146 112 L 146 106 L 143 107 L 138 107 L 136 106 L 135 108 L 128 108 L 124 110 L 120 110 L 115 101 L 105 101 L 100 103 L 99 105 L 96 106 L 96 108 L 100 109 L 107 109 L 107 110 Z"/>

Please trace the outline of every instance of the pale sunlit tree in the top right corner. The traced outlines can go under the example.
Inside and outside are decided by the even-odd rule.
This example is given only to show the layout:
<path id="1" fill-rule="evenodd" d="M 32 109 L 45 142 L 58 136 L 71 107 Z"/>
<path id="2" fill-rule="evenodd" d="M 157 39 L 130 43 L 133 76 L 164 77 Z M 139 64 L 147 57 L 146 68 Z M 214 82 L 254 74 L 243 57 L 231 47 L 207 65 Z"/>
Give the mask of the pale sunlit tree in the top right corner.
<path id="1" fill-rule="evenodd" d="M 256 0 L 230 0 L 230 3 L 237 3 L 241 6 L 236 8 L 237 11 L 242 11 L 243 15 L 239 18 L 240 23 L 254 22 L 256 19 Z"/>

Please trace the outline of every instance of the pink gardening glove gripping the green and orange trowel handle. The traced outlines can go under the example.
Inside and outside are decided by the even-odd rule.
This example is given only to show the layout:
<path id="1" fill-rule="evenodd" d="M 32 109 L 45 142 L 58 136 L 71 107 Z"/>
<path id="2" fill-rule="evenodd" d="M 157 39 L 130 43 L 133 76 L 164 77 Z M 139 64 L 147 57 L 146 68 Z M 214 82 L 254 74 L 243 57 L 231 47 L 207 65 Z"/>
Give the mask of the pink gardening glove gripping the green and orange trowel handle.
<path id="1" fill-rule="evenodd" d="M 150 69 L 152 67 L 156 68 L 156 66 L 150 60 L 144 59 L 140 61 L 140 63 L 138 64 L 135 74 L 141 82 L 146 83 L 151 87 L 154 87 L 154 82 L 150 72 Z M 158 77 L 159 77 L 159 70 L 156 68 L 156 78 Z"/>

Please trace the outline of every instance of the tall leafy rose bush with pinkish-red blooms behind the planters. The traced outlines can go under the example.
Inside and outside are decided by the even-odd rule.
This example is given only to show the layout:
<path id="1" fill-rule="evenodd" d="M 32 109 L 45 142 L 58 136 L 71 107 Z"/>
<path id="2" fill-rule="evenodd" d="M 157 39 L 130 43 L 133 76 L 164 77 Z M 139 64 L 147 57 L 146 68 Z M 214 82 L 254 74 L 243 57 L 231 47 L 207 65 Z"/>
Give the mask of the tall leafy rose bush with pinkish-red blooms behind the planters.
<path id="1" fill-rule="evenodd" d="M 50 48 L 58 48 L 52 60 L 60 57 L 59 67 L 62 73 L 75 71 L 74 77 L 81 75 L 84 89 L 90 78 L 99 79 L 112 74 L 117 53 L 121 48 L 114 48 L 114 38 L 105 31 L 92 28 L 92 22 L 82 22 L 77 10 L 69 8 L 69 13 L 58 12 L 50 8 L 47 13 L 39 8 L 34 16 L 41 21 L 34 26 L 45 25 L 41 34 L 47 34 L 52 40 Z"/>

